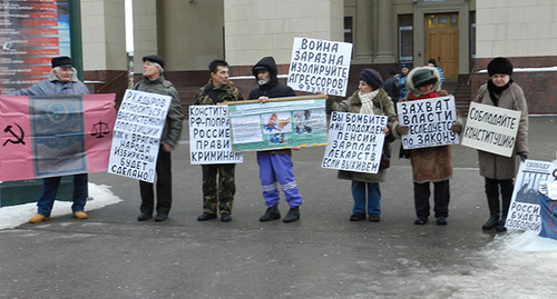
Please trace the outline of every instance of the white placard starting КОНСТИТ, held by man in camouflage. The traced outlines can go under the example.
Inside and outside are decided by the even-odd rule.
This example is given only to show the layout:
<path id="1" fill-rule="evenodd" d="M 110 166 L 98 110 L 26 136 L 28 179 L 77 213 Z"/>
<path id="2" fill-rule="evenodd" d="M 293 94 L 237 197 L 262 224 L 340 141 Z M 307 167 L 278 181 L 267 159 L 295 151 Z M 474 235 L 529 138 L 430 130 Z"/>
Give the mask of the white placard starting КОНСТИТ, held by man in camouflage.
<path id="1" fill-rule="evenodd" d="M 244 161 L 241 152 L 232 152 L 228 106 L 189 106 L 189 158 L 192 165 Z"/>

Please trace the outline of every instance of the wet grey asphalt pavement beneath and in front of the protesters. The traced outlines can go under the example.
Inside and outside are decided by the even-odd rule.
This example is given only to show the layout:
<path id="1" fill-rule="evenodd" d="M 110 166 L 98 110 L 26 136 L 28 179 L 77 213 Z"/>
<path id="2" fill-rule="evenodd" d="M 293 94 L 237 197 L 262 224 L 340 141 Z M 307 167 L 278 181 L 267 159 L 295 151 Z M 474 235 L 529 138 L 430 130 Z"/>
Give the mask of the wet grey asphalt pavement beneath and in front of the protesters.
<path id="1" fill-rule="evenodd" d="M 530 117 L 531 159 L 555 159 L 556 124 L 557 117 Z M 449 298 L 452 293 L 473 298 L 466 297 L 467 291 L 492 293 L 490 286 L 485 291 L 479 283 L 465 286 L 470 276 L 497 268 L 479 253 L 498 233 L 481 230 L 489 212 L 475 150 L 455 147 L 448 226 L 413 225 L 411 168 L 408 160 L 397 158 L 381 183 L 381 221 L 350 222 L 350 181 L 338 180 L 336 171 L 320 167 L 324 148 L 293 153 L 304 199 L 300 221 L 258 221 L 266 207 L 255 153 L 248 152 L 236 167 L 233 220 L 224 223 L 196 221 L 202 213 L 202 171 L 189 165 L 187 140 L 184 131 L 180 147 L 173 152 L 174 206 L 167 221 L 136 220 L 137 181 L 91 173 L 91 182 L 110 186 L 123 201 L 89 211 L 88 220 L 68 215 L 0 231 L 0 298 Z M 395 141 L 394 153 L 399 144 Z M 285 216 L 284 199 L 280 209 Z"/>

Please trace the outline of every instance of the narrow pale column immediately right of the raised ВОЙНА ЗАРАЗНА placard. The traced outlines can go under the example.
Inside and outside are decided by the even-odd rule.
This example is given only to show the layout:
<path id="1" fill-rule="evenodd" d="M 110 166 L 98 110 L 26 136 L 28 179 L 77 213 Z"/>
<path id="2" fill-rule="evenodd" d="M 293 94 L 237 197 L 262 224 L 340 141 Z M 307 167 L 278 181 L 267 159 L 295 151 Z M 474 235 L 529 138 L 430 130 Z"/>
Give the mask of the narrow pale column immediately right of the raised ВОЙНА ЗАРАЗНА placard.
<path id="1" fill-rule="evenodd" d="M 354 58 L 352 63 L 373 62 L 373 6 L 370 0 L 356 0 Z"/>

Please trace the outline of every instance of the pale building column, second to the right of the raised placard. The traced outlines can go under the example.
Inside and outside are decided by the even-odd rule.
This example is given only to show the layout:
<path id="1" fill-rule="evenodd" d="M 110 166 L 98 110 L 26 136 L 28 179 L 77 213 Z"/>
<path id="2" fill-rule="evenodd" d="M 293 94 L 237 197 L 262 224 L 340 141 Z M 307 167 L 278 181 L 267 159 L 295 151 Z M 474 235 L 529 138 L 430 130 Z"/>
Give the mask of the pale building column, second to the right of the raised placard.
<path id="1" fill-rule="evenodd" d="M 390 63 L 395 62 L 394 39 L 387 32 L 397 32 L 393 30 L 392 3 L 391 1 L 378 1 L 377 13 L 377 28 L 378 28 L 378 53 L 373 62 L 375 63 Z M 397 34 L 398 36 L 398 32 Z"/>

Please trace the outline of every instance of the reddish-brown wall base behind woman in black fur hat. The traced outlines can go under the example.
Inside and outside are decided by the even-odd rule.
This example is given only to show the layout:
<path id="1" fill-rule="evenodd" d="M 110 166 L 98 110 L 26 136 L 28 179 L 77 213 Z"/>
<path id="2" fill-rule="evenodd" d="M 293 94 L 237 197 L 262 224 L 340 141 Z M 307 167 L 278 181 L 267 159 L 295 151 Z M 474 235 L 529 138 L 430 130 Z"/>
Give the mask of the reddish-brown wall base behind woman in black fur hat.
<path id="1" fill-rule="evenodd" d="M 477 59 L 476 70 L 486 70 L 492 58 Z M 508 58 L 515 67 L 512 80 L 519 84 L 528 102 L 530 114 L 555 114 L 557 113 L 557 71 L 517 71 L 517 68 L 551 68 L 557 66 L 557 57 L 510 57 Z M 471 99 L 476 98 L 478 89 L 488 80 L 486 73 L 470 74 Z"/>

